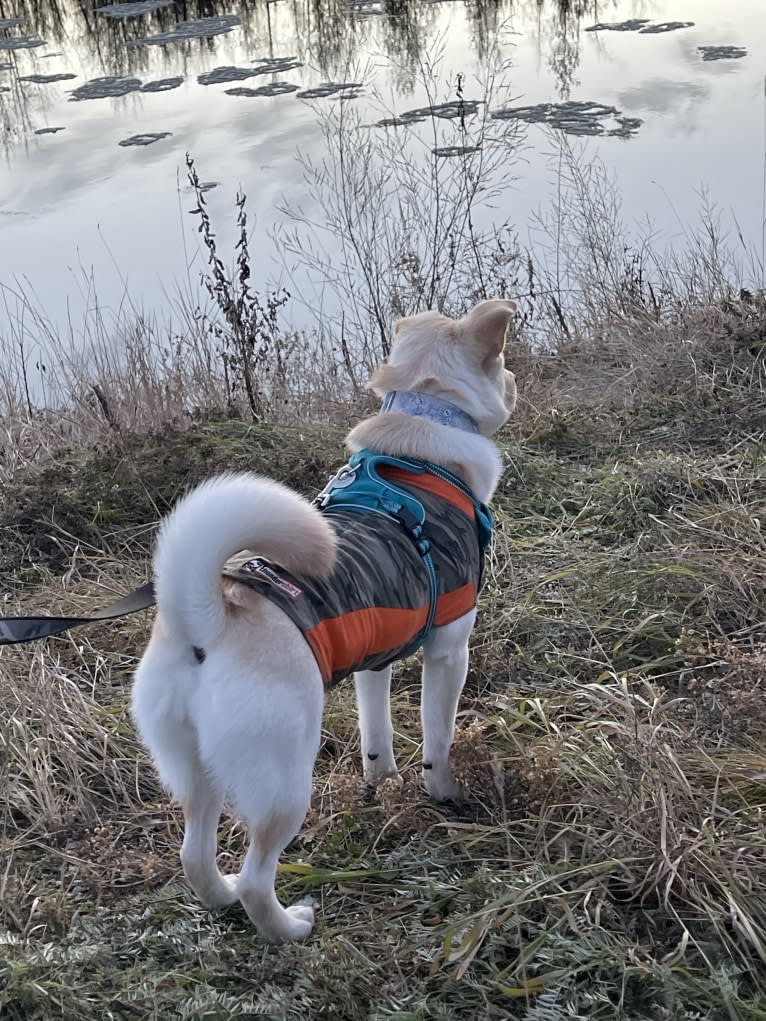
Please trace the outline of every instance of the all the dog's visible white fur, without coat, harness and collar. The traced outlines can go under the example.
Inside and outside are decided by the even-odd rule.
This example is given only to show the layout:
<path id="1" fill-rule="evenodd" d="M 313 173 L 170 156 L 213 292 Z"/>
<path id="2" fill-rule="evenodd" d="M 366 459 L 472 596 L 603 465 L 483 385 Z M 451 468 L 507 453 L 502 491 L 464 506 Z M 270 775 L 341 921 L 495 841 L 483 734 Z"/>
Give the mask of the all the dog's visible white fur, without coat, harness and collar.
<path id="1" fill-rule="evenodd" d="M 361 423 L 347 445 L 431 460 L 488 500 L 501 461 L 487 436 L 516 400 L 501 356 L 514 307 L 490 301 L 457 322 L 433 312 L 401 320 L 389 362 L 371 383 L 452 400 L 485 435 L 394 414 Z M 244 548 L 288 570 L 321 575 L 332 570 L 335 539 L 315 507 L 269 479 L 223 476 L 185 497 L 157 542 L 158 615 L 136 673 L 133 716 L 162 781 L 183 806 L 181 858 L 189 883 L 210 907 L 239 900 L 258 932 L 279 942 L 305 938 L 314 924 L 310 908 L 279 904 L 274 880 L 279 856 L 308 809 L 324 690 L 292 622 L 250 589 L 222 582 L 225 562 Z M 461 793 L 449 748 L 475 617 L 474 610 L 436 629 L 424 645 L 423 775 L 429 793 L 441 799 Z M 203 662 L 195 648 L 203 650 Z M 371 783 L 396 774 L 390 674 L 388 668 L 355 678 Z M 224 798 L 250 837 L 236 876 L 223 876 L 216 861 Z"/>

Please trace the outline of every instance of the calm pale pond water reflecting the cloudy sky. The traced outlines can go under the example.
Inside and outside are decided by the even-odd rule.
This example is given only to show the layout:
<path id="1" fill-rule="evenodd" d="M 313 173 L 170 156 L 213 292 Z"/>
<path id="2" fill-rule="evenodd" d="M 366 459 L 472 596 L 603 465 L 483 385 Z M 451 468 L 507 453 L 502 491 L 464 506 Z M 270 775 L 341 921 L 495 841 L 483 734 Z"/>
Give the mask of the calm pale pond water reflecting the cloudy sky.
<path id="1" fill-rule="evenodd" d="M 628 221 L 649 216 L 665 236 L 679 236 L 696 221 L 706 190 L 760 252 L 762 0 L 580 2 L 564 5 L 572 8 L 568 13 L 554 0 L 144 6 L 156 9 L 110 18 L 88 0 L 0 0 L 0 26 L 2 18 L 23 18 L 0 27 L 0 66 L 7 65 L 0 70 L 0 284 L 6 288 L 0 334 L 3 317 L 13 313 L 7 288 L 19 282 L 55 323 L 77 321 L 96 301 L 116 310 L 130 299 L 163 314 L 179 282 L 195 292 L 198 241 L 188 215 L 187 152 L 202 180 L 214 185 L 207 199 L 222 240 L 231 237 L 232 200 L 242 187 L 256 213 L 256 273 L 265 283 L 284 280 L 270 229 L 282 218 L 285 201 L 319 214 L 296 160 L 296 153 L 322 157 L 317 108 L 342 101 L 378 119 L 384 111 L 373 101 L 376 91 L 386 97 L 389 114 L 422 106 L 427 96 L 418 68 L 437 52 L 439 100 L 454 99 L 458 74 L 465 76 L 466 98 L 480 96 L 474 77 L 485 72 L 493 40 L 511 61 L 509 91 L 495 106 L 537 107 L 524 114 L 523 157 L 500 198 L 522 243 L 534 243 L 530 216 L 544 211 L 556 187 L 549 138 L 538 123 L 546 119 L 570 131 L 603 132 L 573 139 L 614 172 Z M 186 28 L 165 45 L 132 45 L 200 17 L 218 17 L 212 28 L 220 34 L 194 38 Z M 630 18 L 642 23 L 587 31 Z M 639 31 L 671 20 L 691 23 Z M 204 32 L 210 31 L 208 22 Z M 25 39 L 41 44 L 19 47 Z M 7 48 L 2 40 L 16 42 Z M 260 64 L 269 74 L 198 81 L 218 67 L 253 69 L 254 61 L 283 58 L 292 59 Z M 74 90 L 88 95 L 94 89 L 88 83 L 109 77 L 118 81 L 106 89 L 124 94 L 69 98 Z M 351 80 L 364 88 L 348 98 L 337 92 L 299 98 L 321 83 Z M 275 90 L 281 94 L 264 95 L 275 82 L 285 83 Z M 230 95 L 230 89 L 245 92 Z M 588 120 L 576 109 L 538 107 L 562 101 L 603 104 L 608 111 L 596 109 Z"/>

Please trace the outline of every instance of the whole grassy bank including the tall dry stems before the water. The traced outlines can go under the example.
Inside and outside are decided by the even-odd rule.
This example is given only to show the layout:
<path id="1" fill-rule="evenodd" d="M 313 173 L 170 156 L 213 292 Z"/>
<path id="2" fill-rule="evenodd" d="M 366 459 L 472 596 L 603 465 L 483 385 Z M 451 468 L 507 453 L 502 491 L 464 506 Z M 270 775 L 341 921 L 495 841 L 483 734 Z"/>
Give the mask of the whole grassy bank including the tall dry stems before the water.
<path id="1" fill-rule="evenodd" d="M 463 118 L 432 128 L 491 145 Z M 366 131 L 338 123 L 358 188 L 316 168 L 348 234 L 342 272 L 317 260 L 349 308 L 337 330 L 278 332 L 283 295 L 250 290 L 246 244 L 227 276 L 201 200 L 210 305 L 182 337 L 137 317 L 119 348 L 97 310 L 87 343 L 63 344 L 16 296 L 0 335 L 3 613 L 77 613 L 143 582 L 157 520 L 218 470 L 316 492 L 372 406 L 361 382 L 392 314 L 521 293 L 520 404 L 452 752 L 468 801 L 421 789 L 416 662 L 394 683 L 402 783 L 374 795 L 339 686 L 279 878 L 318 925 L 270 947 L 181 879 L 180 817 L 127 708 L 149 615 L 4 648 L 0 1019 L 763 1021 L 766 296 L 735 279 L 712 218 L 680 254 L 629 242 L 603 171 L 571 150 L 538 225 L 546 272 L 507 224 L 472 218 L 513 140 L 411 172 L 428 138 Z M 392 184 L 371 205 L 361 172 L 381 165 Z M 422 236 L 396 211 L 402 187 L 404 211 L 438 193 Z M 38 396 L 36 332 L 51 353 Z M 225 820 L 224 869 L 243 841 Z"/>

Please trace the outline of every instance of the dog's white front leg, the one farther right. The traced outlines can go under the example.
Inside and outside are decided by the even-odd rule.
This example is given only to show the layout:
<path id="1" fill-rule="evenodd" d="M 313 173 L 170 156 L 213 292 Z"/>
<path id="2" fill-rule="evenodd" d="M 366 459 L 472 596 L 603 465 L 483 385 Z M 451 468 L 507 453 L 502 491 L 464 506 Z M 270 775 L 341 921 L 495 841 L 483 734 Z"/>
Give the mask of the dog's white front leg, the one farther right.
<path id="1" fill-rule="evenodd" d="M 436 800 L 462 797 L 449 768 L 458 701 L 468 673 L 468 639 L 476 611 L 437 628 L 423 646 L 423 779 Z"/>

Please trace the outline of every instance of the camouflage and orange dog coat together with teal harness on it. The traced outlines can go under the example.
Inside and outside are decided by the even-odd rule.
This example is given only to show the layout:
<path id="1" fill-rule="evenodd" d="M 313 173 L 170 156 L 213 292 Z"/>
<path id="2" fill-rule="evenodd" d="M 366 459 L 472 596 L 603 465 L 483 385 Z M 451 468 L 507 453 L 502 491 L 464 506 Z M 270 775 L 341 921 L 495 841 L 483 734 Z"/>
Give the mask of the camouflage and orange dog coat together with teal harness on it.
<path id="1" fill-rule="evenodd" d="M 261 557 L 224 575 L 287 614 L 326 686 L 412 655 L 433 627 L 476 605 L 492 516 L 457 476 L 361 450 L 315 503 L 338 537 L 329 578 L 295 575 Z"/>

